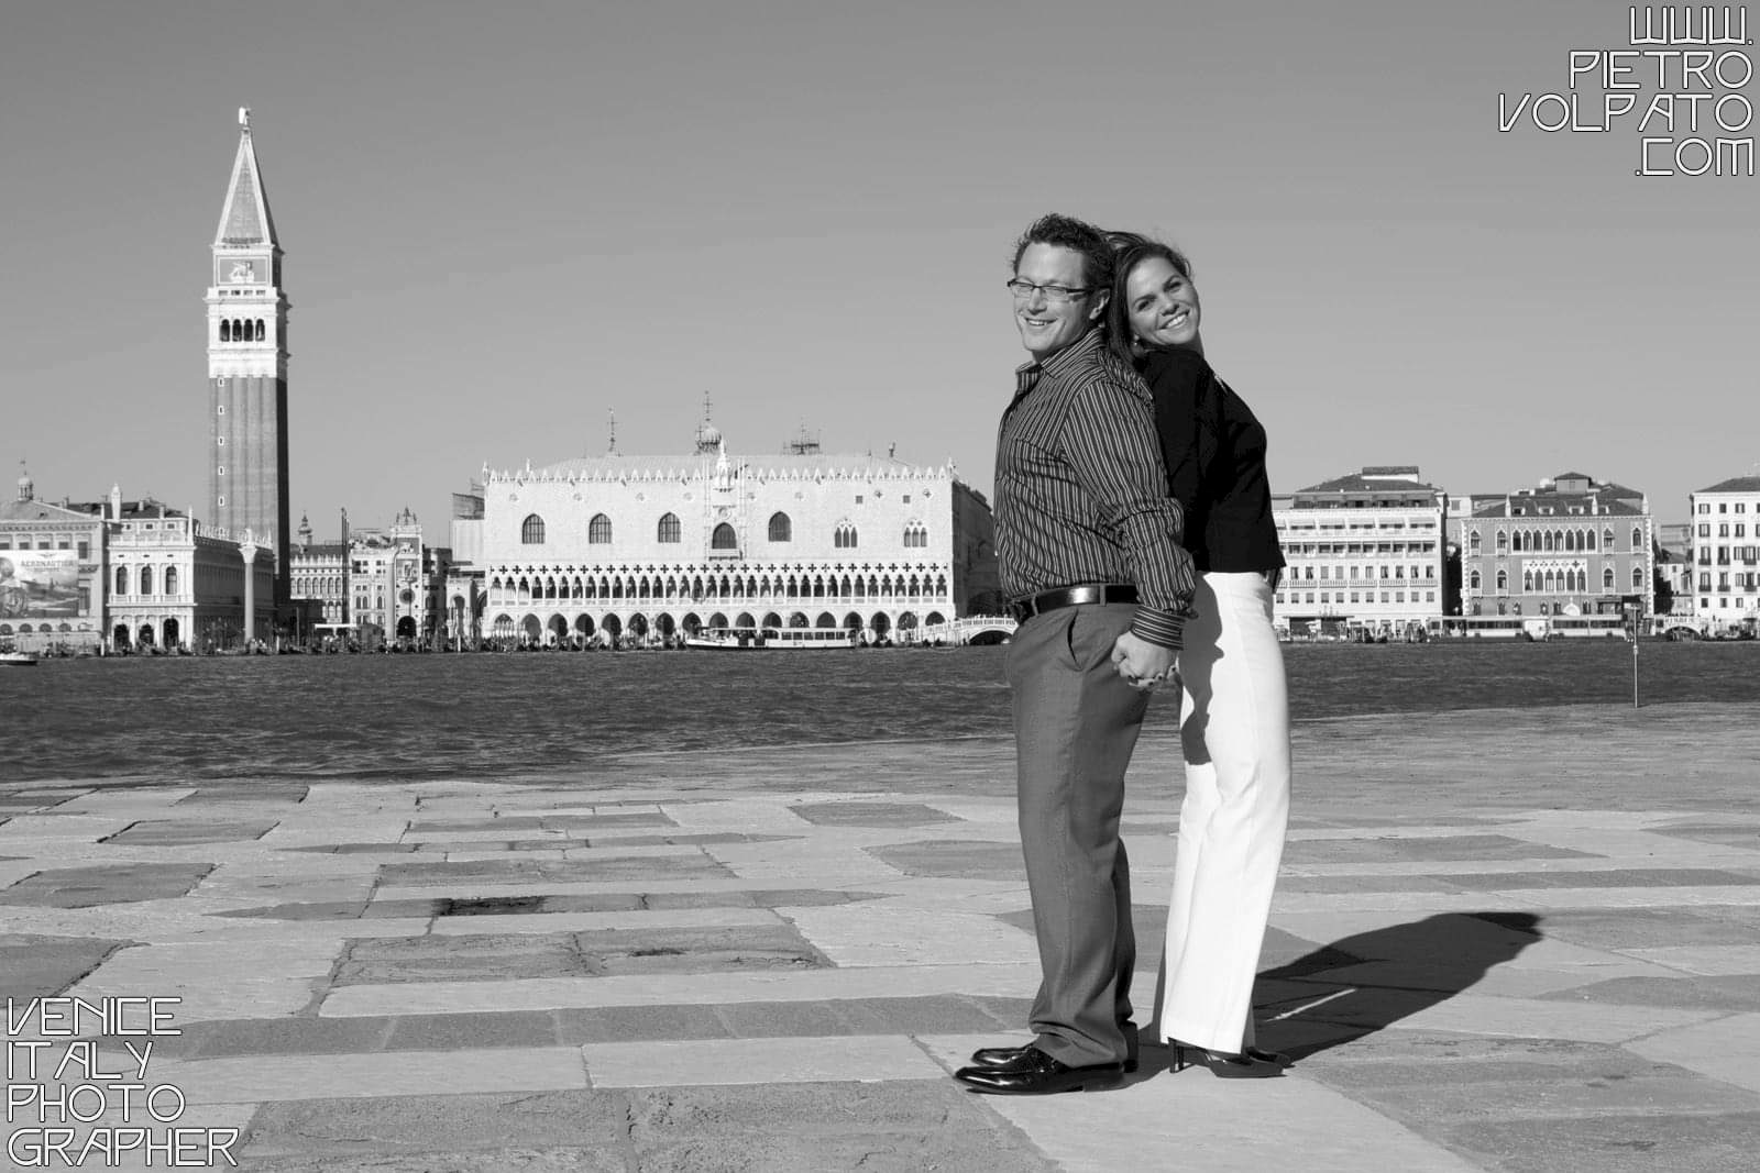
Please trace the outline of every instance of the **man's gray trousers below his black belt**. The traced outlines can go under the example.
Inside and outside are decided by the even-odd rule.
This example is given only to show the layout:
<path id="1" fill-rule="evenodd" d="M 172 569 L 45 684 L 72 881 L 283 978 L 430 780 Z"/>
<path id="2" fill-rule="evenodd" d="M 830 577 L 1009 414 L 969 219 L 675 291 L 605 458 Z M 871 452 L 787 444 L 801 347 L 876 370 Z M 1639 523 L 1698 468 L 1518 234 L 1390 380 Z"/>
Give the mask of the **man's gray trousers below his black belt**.
<path id="1" fill-rule="evenodd" d="M 1126 1055 L 1130 863 L 1118 837 L 1125 769 L 1149 698 L 1112 668 L 1130 603 L 1028 619 L 1008 644 L 1021 851 L 1044 978 L 1031 1029 L 1052 1059 L 1084 1067 Z"/>

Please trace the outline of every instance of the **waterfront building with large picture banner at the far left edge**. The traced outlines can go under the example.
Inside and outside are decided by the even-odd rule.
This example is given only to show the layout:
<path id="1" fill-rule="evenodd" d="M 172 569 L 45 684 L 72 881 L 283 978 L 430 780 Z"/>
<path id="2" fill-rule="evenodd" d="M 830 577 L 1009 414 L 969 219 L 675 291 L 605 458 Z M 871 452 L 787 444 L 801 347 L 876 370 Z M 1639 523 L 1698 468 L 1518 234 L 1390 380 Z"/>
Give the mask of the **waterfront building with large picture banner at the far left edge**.
<path id="1" fill-rule="evenodd" d="M 30 471 L 0 505 L 0 642 L 37 652 L 104 642 L 104 521 L 72 501 L 39 501 Z"/>

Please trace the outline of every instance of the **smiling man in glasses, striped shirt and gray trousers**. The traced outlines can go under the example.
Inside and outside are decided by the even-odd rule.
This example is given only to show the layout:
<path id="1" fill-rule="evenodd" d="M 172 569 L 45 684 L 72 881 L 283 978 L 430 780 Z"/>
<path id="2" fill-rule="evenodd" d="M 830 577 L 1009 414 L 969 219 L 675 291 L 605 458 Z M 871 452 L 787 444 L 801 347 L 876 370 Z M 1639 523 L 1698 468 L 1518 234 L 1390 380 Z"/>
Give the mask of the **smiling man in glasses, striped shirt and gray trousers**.
<path id="1" fill-rule="evenodd" d="M 1118 837 L 1148 693 L 1172 670 L 1195 589 L 1167 492 L 1155 404 L 1107 355 L 1105 236 L 1044 216 L 1016 246 L 1016 327 L 1031 357 L 996 440 L 996 552 L 1008 647 L 1021 849 L 1044 978 L 1026 1046 L 956 1078 L 1033 1096 L 1135 1067 L 1130 867 Z"/>

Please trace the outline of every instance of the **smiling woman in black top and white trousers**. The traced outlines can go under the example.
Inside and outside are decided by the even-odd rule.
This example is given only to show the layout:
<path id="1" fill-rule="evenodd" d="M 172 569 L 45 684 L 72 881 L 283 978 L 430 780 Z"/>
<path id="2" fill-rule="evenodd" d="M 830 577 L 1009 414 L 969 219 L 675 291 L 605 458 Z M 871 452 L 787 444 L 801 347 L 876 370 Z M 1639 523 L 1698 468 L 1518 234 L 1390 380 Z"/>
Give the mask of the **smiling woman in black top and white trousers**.
<path id="1" fill-rule="evenodd" d="M 1169 491 L 1200 572 L 1177 668 L 1186 797 L 1156 1022 L 1176 1069 L 1192 1060 L 1225 1078 L 1276 1076 L 1288 1060 L 1253 1046 L 1253 978 L 1290 811 L 1265 429 L 1204 361 L 1186 259 L 1133 234 L 1112 244 L 1109 341 L 1155 394 Z"/>

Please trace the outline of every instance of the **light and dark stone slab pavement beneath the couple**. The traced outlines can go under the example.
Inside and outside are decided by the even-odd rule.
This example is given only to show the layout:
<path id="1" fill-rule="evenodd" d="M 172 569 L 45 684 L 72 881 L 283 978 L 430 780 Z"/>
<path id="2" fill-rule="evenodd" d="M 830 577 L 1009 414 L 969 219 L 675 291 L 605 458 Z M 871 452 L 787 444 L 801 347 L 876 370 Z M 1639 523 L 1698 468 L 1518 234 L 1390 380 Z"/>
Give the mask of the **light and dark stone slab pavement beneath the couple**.
<path id="1" fill-rule="evenodd" d="M 0 784 L 11 1157 L 146 1124 L 278 1173 L 1755 1168 L 1755 716 L 1297 726 L 1257 992 L 1288 1078 L 1146 1048 L 1123 1089 L 1023 1099 L 949 1078 L 1037 985 L 1007 740 Z M 1144 997 L 1174 763 L 1163 719 L 1125 828 Z M 55 995 L 143 1034 L 32 1013 Z M 178 1001 L 146 1034 L 104 999 Z"/>

